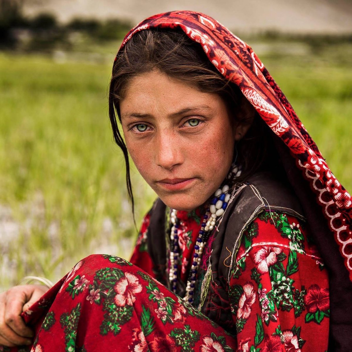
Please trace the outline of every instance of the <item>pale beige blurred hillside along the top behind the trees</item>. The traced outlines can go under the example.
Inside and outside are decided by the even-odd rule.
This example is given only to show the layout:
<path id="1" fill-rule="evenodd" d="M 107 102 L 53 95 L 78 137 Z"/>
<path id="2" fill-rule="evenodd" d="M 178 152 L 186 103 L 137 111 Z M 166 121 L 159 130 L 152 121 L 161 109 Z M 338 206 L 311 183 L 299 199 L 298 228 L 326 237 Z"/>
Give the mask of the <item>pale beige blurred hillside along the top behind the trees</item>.
<path id="1" fill-rule="evenodd" d="M 26 14 L 52 12 L 73 17 L 118 17 L 138 23 L 149 15 L 195 10 L 240 33 L 279 30 L 290 33 L 351 33 L 351 0 L 23 0 Z"/>

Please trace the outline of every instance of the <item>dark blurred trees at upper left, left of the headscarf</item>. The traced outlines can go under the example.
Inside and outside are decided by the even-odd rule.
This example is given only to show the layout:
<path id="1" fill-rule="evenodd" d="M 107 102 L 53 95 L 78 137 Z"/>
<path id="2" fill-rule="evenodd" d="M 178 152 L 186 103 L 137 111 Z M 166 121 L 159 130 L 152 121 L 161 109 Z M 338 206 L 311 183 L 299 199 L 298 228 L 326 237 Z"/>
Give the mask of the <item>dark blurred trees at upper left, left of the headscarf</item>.
<path id="1" fill-rule="evenodd" d="M 124 38 L 132 25 L 121 19 L 74 18 L 60 24 L 52 13 L 26 17 L 23 0 L 0 0 L 0 49 L 50 50 L 58 45 L 69 50 L 77 35 L 92 39 Z"/>

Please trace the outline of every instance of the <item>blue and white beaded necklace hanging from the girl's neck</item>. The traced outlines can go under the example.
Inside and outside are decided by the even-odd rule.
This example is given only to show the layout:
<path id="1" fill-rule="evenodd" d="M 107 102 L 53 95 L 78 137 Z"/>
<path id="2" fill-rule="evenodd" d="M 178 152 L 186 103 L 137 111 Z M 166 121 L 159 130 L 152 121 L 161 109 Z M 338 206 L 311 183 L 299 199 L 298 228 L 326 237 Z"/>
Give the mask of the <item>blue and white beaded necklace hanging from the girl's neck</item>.
<path id="1" fill-rule="evenodd" d="M 232 170 L 227 176 L 228 180 L 234 180 L 235 177 L 241 175 L 241 170 L 235 164 L 232 165 Z M 200 231 L 194 246 L 193 261 L 189 271 L 187 279 L 186 294 L 183 299 L 189 303 L 193 302 L 193 295 L 195 289 L 195 283 L 197 280 L 197 273 L 202 258 L 202 253 L 207 240 L 214 230 L 216 220 L 224 214 L 228 201 L 230 200 L 230 187 L 223 182 L 222 187 L 217 189 L 214 193 L 214 198 L 210 202 L 209 207 L 204 215 L 203 222 L 201 224 Z M 177 287 L 177 274 L 178 274 L 178 259 L 180 257 L 180 246 L 178 245 L 178 228 L 180 227 L 179 220 L 177 219 L 177 210 L 171 209 L 170 220 L 171 220 L 171 250 L 170 250 L 170 271 L 169 281 L 171 284 L 172 292 L 176 293 Z"/>

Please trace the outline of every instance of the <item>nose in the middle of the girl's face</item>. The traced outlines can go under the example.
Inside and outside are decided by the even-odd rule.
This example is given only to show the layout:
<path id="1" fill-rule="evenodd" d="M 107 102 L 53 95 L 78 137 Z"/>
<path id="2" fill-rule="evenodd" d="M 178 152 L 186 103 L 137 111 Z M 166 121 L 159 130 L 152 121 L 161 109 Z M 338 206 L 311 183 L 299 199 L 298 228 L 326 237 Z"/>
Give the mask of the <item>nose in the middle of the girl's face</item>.
<path id="1" fill-rule="evenodd" d="M 163 169 L 171 170 L 183 163 L 181 143 L 175 133 L 160 132 L 156 140 L 156 164 Z"/>

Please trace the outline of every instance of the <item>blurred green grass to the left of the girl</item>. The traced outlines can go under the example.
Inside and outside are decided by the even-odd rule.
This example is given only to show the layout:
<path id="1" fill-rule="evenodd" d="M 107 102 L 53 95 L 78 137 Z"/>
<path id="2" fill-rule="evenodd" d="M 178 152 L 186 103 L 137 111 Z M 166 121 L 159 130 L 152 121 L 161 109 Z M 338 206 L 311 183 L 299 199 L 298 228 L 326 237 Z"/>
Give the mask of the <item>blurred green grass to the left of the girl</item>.
<path id="1" fill-rule="evenodd" d="M 130 255 L 136 230 L 107 115 L 110 70 L 0 54 L 0 287 L 29 274 L 55 281 L 88 253 Z M 132 182 L 138 224 L 154 194 L 135 171 Z"/>

